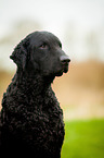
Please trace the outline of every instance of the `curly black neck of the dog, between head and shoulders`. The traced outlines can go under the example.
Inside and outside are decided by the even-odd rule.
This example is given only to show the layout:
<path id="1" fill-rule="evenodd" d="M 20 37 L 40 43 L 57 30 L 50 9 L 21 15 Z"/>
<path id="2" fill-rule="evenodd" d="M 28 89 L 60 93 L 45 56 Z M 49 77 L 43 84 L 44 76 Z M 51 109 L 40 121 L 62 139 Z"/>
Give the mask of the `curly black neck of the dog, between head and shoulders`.
<path id="1" fill-rule="evenodd" d="M 43 94 L 53 82 L 53 76 L 42 76 L 39 73 L 25 73 L 17 71 L 14 76 L 14 82 L 16 82 L 17 87 L 27 93 L 27 95 L 32 94 L 35 96 Z"/>

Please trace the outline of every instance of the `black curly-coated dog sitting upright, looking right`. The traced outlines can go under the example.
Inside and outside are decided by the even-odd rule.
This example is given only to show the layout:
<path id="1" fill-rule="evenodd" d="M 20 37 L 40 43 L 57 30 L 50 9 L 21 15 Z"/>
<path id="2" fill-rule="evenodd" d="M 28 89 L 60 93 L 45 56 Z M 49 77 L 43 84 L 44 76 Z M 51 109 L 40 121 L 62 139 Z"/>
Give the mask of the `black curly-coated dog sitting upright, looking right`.
<path id="1" fill-rule="evenodd" d="M 63 112 L 51 83 L 68 71 L 70 60 L 58 38 L 48 32 L 28 35 L 10 58 L 17 71 L 3 95 L 0 155 L 60 158 Z"/>

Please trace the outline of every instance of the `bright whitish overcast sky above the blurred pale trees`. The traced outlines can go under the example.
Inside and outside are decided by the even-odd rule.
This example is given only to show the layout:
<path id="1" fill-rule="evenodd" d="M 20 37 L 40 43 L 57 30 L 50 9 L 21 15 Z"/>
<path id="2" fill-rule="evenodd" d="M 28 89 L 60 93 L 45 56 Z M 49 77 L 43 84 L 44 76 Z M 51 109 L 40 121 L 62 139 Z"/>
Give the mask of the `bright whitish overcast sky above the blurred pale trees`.
<path id="1" fill-rule="evenodd" d="M 61 38 L 66 24 L 73 23 L 81 37 L 104 26 L 104 0 L 0 0 L 0 38 L 14 23 L 26 19 L 39 22 Z M 77 54 L 82 57 L 81 51 Z"/>

